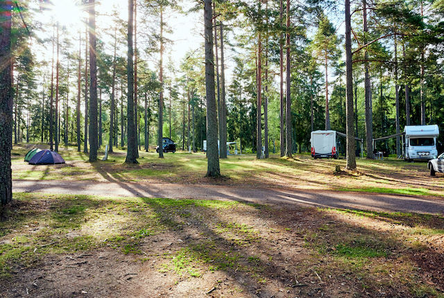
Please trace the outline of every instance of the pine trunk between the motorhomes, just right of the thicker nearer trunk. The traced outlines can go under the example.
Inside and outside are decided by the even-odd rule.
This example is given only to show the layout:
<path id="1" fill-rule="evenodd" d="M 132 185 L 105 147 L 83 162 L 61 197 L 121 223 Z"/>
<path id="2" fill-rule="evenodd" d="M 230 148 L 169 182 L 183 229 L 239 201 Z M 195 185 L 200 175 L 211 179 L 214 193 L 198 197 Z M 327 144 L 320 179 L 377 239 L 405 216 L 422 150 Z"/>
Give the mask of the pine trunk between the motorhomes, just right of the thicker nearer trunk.
<path id="1" fill-rule="evenodd" d="M 367 3 L 366 0 L 362 1 L 363 3 L 363 27 L 364 27 L 364 44 L 367 43 L 366 34 L 368 32 L 367 28 Z M 372 111 L 372 105 L 371 105 L 371 98 L 372 98 L 372 89 L 370 85 L 370 75 L 368 73 L 368 52 L 367 48 L 364 49 L 364 68 L 365 68 L 365 74 L 364 74 L 364 96 L 365 96 L 365 105 L 366 105 L 366 150 L 367 150 L 367 158 L 373 159 L 373 111 Z"/>

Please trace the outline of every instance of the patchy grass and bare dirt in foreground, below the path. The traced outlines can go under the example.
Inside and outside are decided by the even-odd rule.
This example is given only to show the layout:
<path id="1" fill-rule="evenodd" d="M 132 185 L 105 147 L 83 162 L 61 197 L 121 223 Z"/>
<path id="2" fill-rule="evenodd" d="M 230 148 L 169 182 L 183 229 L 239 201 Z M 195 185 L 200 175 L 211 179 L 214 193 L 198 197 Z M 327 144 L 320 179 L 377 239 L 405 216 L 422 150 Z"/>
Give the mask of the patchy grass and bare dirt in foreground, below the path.
<path id="1" fill-rule="evenodd" d="M 14 197 L 0 222 L 5 297 L 444 297 L 443 216 Z"/>

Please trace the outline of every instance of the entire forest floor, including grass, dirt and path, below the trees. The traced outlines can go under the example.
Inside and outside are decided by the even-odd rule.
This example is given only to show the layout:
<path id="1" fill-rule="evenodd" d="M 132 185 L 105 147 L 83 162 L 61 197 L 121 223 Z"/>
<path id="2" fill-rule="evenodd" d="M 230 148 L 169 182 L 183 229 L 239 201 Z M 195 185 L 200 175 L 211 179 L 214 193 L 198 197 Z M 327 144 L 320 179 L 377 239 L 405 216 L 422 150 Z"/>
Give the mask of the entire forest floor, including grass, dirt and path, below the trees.
<path id="1" fill-rule="evenodd" d="M 1 214 L 2 297 L 444 297 L 444 178 L 424 162 L 244 155 L 209 179 L 201 153 L 128 166 L 69 147 L 31 166 L 29 147 L 12 151 L 35 189 Z"/>

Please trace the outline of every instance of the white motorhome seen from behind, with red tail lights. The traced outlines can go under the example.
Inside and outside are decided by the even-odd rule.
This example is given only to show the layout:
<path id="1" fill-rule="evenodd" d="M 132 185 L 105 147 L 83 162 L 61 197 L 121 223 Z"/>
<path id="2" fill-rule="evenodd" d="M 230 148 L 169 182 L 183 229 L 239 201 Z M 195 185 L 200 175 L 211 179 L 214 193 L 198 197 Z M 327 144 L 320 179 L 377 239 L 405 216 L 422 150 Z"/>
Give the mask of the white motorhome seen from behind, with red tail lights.
<path id="1" fill-rule="evenodd" d="M 336 131 L 315 130 L 311 132 L 311 157 L 316 158 L 338 158 L 336 145 Z"/>

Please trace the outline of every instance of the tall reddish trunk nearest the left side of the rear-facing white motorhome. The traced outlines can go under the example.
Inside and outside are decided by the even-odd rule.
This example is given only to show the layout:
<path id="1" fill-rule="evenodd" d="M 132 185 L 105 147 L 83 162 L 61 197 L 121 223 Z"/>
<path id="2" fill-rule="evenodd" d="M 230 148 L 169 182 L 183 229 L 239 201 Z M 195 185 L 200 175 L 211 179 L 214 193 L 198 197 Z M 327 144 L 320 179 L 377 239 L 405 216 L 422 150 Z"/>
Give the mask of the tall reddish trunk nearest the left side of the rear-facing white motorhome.
<path id="1" fill-rule="evenodd" d="M 287 150 L 285 155 L 293 157 L 293 140 L 291 138 L 291 64 L 290 64 L 290 0 L 287 0 Z"/>

